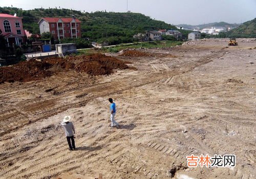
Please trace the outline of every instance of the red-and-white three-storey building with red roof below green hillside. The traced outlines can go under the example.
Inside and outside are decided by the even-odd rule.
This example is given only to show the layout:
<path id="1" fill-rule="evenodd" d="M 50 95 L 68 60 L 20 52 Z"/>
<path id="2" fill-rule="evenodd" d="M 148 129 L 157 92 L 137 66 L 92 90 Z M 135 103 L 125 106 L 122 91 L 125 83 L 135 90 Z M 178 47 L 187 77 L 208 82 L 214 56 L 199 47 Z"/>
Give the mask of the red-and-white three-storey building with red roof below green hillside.
<path id="1" fill-rule="evenodd" d="M 40 34 L 50 32 L 55 39 L 81 37 L 81 21 L 76 18 L 43 17 L 38 24 Z"/>

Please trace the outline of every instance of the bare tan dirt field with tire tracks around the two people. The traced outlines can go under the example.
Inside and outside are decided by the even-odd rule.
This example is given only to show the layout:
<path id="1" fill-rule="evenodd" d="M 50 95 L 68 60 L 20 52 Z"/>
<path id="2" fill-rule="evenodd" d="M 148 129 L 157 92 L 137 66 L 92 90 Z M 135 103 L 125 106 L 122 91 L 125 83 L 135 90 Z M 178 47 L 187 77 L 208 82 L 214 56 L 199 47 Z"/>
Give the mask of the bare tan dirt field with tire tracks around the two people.
<path id="1" fill-rule="evenodd" d="M 0 84 L 0 178 L 256 178 L 256 40 L 238 43 L 110 54 L 137 70 L 66 69 Z M 109 127 L 110 97 L 118 129 Z M 74 151 L 60 126 L 66 115 Z M 191 154 L 235 154 L 236 167 L 188 168 Z"/>

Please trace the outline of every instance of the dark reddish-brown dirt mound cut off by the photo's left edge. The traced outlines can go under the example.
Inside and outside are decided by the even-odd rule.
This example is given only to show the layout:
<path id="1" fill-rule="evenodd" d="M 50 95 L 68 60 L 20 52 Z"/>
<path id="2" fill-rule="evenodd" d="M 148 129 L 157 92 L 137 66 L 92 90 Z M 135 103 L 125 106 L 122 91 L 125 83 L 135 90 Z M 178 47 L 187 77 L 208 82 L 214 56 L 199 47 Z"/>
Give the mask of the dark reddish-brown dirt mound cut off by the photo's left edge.
<path id="1" fill-rule="evenodd" d="M 52 75 L 49 68 L 52 65 L 46 61 L 22 61 L 13 66 L 4 66 L 0 68 L 0 83 L 5 81 L 28 82 L 38 80 Z"/>

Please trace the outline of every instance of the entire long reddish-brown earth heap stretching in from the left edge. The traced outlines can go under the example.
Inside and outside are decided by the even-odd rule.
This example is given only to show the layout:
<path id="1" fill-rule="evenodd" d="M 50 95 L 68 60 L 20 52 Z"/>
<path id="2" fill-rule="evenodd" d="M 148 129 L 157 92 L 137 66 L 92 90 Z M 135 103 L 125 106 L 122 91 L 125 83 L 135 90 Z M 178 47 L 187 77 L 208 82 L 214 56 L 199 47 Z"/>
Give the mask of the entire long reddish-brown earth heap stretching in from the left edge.
<path id="1" fill-rule="evenodd" d="M 89 75 L 109 75 L 113 73 L 113 69 L 127 68 L 129 67 L 123 61 L 102 54 L 70 56 L 67 59 L 56 57 L 44 60 L 31 59 L 0 68 L 0 84 L 40 80 L 63 70 L 86 72 Z"/>

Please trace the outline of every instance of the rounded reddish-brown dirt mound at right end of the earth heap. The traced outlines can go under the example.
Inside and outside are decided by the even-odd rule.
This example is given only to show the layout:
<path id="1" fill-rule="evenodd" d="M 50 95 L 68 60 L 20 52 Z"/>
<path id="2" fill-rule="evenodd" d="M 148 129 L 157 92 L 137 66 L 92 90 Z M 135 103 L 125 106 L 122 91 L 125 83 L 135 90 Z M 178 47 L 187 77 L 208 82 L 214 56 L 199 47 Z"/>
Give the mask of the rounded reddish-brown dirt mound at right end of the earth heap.
<path id="1" fill-rule="evenodd" d="M 109 75 L 113 73 L 113 69 L 128 68 L 123 61 L 103 54 L 92 54 L 79 58 L 83 58 L 83 61 L 78 64 L 77 70 L 89 75 Z"/>

